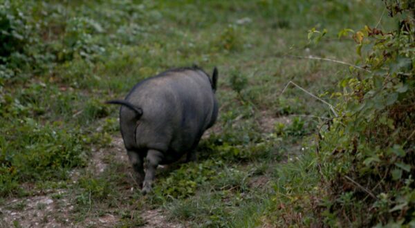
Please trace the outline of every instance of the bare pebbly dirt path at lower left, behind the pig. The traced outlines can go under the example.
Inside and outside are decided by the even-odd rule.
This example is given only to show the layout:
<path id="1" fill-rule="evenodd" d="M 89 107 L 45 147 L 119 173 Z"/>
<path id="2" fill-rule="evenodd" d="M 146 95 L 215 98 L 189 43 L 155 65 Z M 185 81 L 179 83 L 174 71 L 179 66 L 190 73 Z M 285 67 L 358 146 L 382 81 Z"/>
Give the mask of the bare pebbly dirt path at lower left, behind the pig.
<path id="1" fill-rule="evenodd" d="M 107 156 L 129 166 L 121 137 L 113 137 L 111 146 L 92 149 L 90 169 L 95 175 L 104 172 L 109 166 Z M 79 170 L 71 172 L 72 182 L 77 182 Z M 136 189 L 134 189 L 136 191 Z M 0 228 L 3 227 L 114 227 L 120 222 L 118 213 L 105 213 L 102 216 L 86 216 L 75 221 L 74 198 L 71 187 L 68 189 L 42 189 L 22 198 L 7 198 L 0 203 Z M 122 202 L 121 202 L 122 203 Z M 149 209 L 140 214 L 144 227 L 184 227 L 167 220 L 161 209 Z"/>

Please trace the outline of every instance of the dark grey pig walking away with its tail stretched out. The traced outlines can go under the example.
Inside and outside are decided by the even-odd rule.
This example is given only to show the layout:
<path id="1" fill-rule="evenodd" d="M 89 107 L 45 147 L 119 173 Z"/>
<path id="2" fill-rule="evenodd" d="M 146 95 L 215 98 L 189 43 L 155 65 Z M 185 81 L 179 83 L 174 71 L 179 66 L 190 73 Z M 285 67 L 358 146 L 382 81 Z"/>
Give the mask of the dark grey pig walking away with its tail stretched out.
<path id="1" fill-rule="evenodd" d="M 218 115 L 217 80 L 216 67 L 212 78 L 198 66 L 176 68 L 139 82 L 124 100 L 107 102 L 121 105 L 120 131 L 143 194 L 151 191 L 158 164 L 185 153 L 187 161 L 196 160 L 194 148 Z"/>

